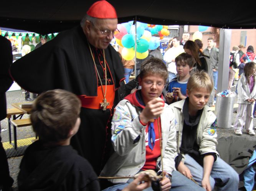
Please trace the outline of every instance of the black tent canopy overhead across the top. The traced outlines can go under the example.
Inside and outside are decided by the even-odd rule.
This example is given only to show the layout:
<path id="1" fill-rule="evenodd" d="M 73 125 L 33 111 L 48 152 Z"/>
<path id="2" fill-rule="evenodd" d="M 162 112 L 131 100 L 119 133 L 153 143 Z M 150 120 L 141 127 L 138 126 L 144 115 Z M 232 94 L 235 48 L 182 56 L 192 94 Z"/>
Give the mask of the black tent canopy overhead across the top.
<path id="1" fill-rule="evenodd" d="M 79 24 L 95 0 L 3 1 L 0 27 L 48 34 Z M 137 20 L 161 25 L 204 25 L 230 29 L 254 29 L 256 15 L 241 0 L 109 0 L 119 23 Z M 253 8 L 254 5 L 251 5 Z"/>

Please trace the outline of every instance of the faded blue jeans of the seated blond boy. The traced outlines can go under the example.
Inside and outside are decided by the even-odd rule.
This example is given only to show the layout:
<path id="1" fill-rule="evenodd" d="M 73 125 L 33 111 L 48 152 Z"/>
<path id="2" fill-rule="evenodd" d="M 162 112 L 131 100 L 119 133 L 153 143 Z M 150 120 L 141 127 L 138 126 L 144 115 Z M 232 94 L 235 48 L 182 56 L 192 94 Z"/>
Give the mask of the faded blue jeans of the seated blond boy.
<path id="1" fill-rule="evenodd" d="M 185 154 L 184 164 L 189 168 L 193 179 L 201 186 L 203 167 L 188 154 Z M 216 161 L 213 163 L 210 175 L 211 189 L 213 190 L 214 185 L 216 185 L 219 191 L 234 191 L 238 190 L 238 183 L 238 173 L 224 160 L 217 157 Z"/>

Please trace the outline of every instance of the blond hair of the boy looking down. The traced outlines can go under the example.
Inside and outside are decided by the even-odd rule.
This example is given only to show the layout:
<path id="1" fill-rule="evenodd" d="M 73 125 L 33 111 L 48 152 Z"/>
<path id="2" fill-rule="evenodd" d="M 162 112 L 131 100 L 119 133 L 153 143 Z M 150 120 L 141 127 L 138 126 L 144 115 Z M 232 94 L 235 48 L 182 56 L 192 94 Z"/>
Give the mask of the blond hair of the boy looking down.
<path id="1" fill-rule="evenodd" d="M 191 92 L 192 90 L 198 89 L 201 87 L 206 88 L 208 92 L 211 92 L 213 89 L 213 81 L 205 71 L 194 73 L 188 79 L 188 83 L 187 83 L 188 92 Z"/>

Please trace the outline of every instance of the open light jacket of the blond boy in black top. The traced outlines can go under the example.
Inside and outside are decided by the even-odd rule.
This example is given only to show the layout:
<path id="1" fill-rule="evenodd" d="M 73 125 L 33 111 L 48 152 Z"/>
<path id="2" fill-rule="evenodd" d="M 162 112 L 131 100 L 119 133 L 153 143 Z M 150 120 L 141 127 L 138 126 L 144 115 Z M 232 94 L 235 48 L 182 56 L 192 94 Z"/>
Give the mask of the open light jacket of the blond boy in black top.
<path id="1" fill-rule="evenodd" d="M 175 115 L 175 128 L 177 131 L 177 151 L 180 153 L 180 146 L 182 143 L 182 129 L 183 129 L 183 105 L 185 103 L 185 99 L 181 100 L 179 102 L 175 102 L 171 105 L 169 105 L 167 108 L 171 108 L 174 115 Z M 197 127 L 197 144 L 199 145 L 199 152 L 200 154 L 206 154 L 209 152 L 214 152 L 217 155 L 218 152 L 216 151 L 216 145 L 217 142 L 217 121 L 216 116 L 214 113 L 210 110 L 210 107 L 205 105 L 203 108 L 203 113 L 201 115 L 200 121 L 198 123 Z M 184 155 L 182 162 L 184 162 Z"/>

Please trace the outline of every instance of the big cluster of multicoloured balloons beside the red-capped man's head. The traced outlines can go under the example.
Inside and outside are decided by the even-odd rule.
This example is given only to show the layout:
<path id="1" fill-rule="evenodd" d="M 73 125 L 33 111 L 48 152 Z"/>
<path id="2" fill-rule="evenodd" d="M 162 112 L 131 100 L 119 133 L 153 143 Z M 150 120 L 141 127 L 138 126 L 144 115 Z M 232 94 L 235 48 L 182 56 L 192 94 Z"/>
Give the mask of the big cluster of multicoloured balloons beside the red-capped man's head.
<path id="1" fill-rule="evenodd" d="M 132 60 L 135 57 L 135 43 L 136 43 L 136 58 L 144 59 L 149 55 L 149 49 L 154 50 L 160 46 L 160 39 L 164 36 L 168 36 L 168 26 L 151 25 L 145 23 L 136 23 L 136 35 L 135 25 L 133 21 L 128 23 L 117 24 L 117 29 L 114 33 L 116 43 L 122 47 L 122 57 L 125 60 Z M 159 37 L 152 36 L 158 34 Z M 136 40 L 135 40 L 136 36 Z"/>

